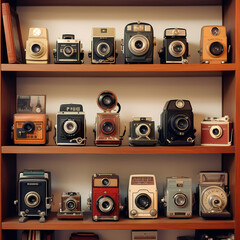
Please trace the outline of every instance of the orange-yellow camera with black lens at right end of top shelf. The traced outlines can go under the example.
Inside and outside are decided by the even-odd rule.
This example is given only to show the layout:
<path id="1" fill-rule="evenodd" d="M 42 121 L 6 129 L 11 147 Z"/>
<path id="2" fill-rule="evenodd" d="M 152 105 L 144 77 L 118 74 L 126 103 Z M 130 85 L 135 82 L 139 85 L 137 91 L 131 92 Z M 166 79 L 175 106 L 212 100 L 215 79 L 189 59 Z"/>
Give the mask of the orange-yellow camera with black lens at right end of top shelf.
<path id="1" fill-rule="evenodd" d="M 202 27 L 199 54 L 201 63 L 227 62 L 228 43 L 225 26 Z"/>

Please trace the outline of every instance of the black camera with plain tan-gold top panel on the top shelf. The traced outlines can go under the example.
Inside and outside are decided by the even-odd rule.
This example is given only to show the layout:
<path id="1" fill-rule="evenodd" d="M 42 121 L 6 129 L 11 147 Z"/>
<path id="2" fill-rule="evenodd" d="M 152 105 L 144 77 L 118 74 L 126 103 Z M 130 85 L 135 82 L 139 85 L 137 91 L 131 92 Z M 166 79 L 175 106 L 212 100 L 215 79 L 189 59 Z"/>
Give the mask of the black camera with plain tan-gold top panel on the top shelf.
<path id="1" fill-rule="evenodd" d="M 88 56 L 92 63 L 116 63 L 115 28 L 93 28 Z"/>

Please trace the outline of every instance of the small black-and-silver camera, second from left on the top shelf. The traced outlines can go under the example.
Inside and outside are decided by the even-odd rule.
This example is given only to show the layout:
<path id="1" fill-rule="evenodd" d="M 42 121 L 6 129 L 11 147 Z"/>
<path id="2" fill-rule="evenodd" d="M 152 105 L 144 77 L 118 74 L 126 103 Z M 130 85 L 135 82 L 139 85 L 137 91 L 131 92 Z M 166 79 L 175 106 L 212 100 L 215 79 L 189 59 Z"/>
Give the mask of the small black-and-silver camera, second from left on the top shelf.
<path id="1" fill-rule="evenodd" d="M 74 34 L 63 34 L 62 39 L 56 41 L 53 56 L 55 58 L 54 63 L 83 63 L 82 43 L 75 39 Z"/>

